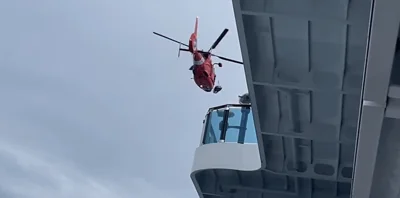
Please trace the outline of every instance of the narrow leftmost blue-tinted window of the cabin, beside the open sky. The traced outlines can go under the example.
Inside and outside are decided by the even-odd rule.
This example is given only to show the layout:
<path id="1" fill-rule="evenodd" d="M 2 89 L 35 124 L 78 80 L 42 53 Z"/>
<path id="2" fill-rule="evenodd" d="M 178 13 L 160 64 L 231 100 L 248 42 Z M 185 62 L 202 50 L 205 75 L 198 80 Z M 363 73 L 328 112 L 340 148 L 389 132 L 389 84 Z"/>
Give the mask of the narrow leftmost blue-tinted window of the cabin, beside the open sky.
<path id="1" fill-rule="evenodd" d="M 224 109 L 212 111 L 206 123 L 203 144 L 217 143 L 221 138 L 221 128 L 224 118 Z"/>

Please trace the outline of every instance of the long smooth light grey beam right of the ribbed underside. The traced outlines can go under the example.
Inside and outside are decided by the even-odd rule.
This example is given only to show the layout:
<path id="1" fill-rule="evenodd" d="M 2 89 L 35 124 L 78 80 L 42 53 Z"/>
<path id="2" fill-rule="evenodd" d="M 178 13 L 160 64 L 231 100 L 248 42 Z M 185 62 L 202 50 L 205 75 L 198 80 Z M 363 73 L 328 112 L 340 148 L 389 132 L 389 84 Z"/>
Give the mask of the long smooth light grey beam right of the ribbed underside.
<path id="1" fill-rule="evenodd" d="M 400 1 L 373 0 L 369 45 L 359 116 L 353 198 L 371 197 L 394 50 L 400 22 Z"/>

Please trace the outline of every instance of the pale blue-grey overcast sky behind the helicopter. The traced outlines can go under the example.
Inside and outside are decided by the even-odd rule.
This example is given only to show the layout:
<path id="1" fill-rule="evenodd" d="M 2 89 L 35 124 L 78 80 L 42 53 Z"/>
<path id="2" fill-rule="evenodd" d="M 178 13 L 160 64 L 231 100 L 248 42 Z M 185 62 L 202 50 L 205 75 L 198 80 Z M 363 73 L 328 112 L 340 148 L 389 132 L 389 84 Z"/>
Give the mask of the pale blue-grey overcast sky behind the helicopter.
<path id="1" fill-rule="evenodd" d="M 198 197 L 190 172 L 209 107 L 246 92 L 216 68 L 214 95 L 191 56 L 153 31 L 241 60 L 229 0 L 0 1 L 0 197 Z"/>

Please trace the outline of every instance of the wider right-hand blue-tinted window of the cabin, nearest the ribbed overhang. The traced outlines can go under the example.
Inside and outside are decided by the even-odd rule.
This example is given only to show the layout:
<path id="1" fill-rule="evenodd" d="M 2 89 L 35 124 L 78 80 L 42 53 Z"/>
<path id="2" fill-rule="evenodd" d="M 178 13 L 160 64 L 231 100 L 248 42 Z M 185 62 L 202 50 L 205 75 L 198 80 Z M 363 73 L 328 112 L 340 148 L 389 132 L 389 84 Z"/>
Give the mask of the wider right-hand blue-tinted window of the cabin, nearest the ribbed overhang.
<path id="1" fill-rule="evenodd" d="M 257 143 L 254 120 L 250 108 L 230 108 L 225 142 Z"/>

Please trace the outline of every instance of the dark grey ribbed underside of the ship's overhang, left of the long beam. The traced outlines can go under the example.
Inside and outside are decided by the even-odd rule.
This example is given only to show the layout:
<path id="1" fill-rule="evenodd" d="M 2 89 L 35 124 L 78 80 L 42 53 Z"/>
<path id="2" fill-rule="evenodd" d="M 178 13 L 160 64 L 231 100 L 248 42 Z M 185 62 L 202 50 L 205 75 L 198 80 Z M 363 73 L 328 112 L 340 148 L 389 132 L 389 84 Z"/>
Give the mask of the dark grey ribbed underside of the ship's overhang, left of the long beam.
<path id="1" fill-rule="evenodd" d="M 233 4 L 263 168 L 199 180 L 234 183 L 232 197 L 349 197 L 371 2 Z"/>

